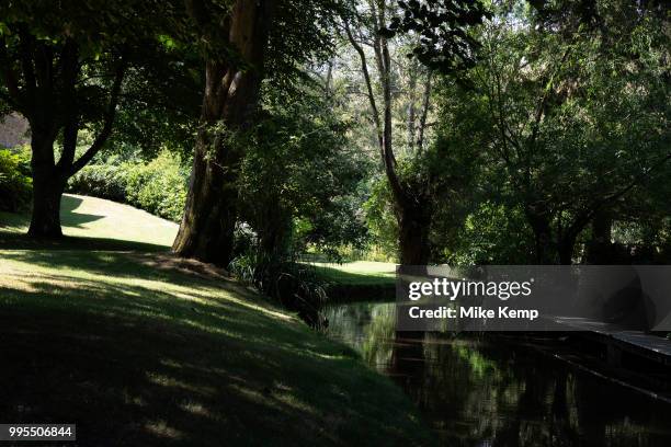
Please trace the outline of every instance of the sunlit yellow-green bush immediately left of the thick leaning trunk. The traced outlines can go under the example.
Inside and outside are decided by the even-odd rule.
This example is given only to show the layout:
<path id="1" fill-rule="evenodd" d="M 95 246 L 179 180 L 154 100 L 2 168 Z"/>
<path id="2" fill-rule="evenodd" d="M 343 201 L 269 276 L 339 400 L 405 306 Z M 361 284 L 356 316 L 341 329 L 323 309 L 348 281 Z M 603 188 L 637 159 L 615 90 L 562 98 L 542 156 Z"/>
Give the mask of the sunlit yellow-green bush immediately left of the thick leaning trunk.
<path id="1" fill-rule="evenodd" d="M 128 204 L 173 221 L 182 218 L 187 191 L 178 157 L 161 152 L 147 164 L 123 167 L 127 169 Z"/>

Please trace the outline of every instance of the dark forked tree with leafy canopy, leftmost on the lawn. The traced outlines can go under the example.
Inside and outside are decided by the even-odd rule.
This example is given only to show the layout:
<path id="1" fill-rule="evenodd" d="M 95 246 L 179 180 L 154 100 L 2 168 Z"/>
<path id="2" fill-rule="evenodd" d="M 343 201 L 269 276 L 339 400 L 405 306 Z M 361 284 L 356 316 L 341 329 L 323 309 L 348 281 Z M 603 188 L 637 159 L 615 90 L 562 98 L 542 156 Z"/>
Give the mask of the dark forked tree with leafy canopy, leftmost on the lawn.
<path id="1" fill-rule="evenodd" d="M 65 185 L 112 135 L 124 79 L 143 59 L 136 50 L 151 42 L 158 28 L 156 7 L 133 0 L 0 5 L 0 101 L 31 126 L 29 234 L 62 236 Z M 78 154 L 82 128 L 95 137 Z"/>

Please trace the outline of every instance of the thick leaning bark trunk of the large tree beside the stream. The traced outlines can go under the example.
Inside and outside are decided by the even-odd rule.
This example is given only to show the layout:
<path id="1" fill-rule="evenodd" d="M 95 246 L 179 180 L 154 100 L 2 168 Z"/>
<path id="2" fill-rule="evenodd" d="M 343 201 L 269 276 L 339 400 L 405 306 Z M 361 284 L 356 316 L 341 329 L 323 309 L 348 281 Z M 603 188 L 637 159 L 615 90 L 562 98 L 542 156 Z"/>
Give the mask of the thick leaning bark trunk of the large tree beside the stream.
<path id="1" fill-rule="evenodd" d="M 172 245 L 179 255 L 219 265 L 232 256 L 238 172 L 244 154 L 235 139 L 253 125 L 273 5 L 272 0 L 238 0 L 231 11 L 229 43 L 250 67 L 206 62 L 202 129 L 184 217 Z M 225 128 L 213 131 L 215 125 Z"/>

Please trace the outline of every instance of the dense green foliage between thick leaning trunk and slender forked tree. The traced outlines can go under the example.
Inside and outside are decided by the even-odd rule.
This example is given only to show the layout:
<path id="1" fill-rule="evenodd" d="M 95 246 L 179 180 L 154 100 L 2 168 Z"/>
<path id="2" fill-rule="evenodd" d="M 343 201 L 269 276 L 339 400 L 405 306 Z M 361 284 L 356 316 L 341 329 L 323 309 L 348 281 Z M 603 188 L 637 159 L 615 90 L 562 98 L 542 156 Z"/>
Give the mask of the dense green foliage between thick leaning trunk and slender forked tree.
<path id="1" fill-rule="evenodd" d="M 240 190 L 242 219 L 265 253 L 363 243 L 353 197 L 366 162 L 346 145 L 346 129 L 308 88 L 291 104 L 266 102 L 248 140 Z"/>

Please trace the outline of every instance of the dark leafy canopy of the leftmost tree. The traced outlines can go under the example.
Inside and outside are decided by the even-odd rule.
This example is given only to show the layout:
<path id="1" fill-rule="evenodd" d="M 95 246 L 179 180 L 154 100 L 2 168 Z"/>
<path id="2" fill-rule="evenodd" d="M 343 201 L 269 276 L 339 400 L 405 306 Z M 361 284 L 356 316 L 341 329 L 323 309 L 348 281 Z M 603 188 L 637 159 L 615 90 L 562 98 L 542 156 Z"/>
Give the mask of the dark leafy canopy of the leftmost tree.
<path id="1" fill-rule="evenodd" d="M 159 7 L 162 13 L 157 15 Z M 49 114 L 57 126 L 52 131 L 60 131 L 70 115 L 84 127 L 101 125 L 120 61 L 140 67 L 147 58 L 155 60 L 151 56 L 160 49 L 157 34 L 171 13 L 174 10 L 167 2 L 137 0 L 4 2 L 0 59 L 8 82 L 0 85 L 0 99 L 35 127 L 36 121 L 49 117 L 37 114 L 35 95 L 50 89 L 49 96 L 41 100 L 50 101 Z M 42 71 L 46 67 L 41 57 L 48 59 L 42 60 L 52 71 Z"/>

